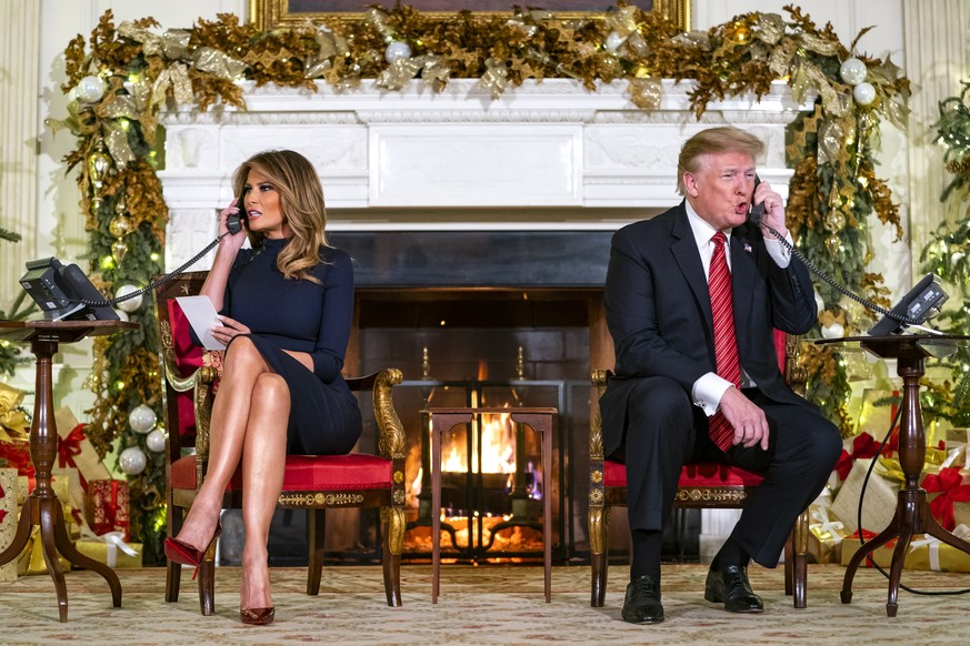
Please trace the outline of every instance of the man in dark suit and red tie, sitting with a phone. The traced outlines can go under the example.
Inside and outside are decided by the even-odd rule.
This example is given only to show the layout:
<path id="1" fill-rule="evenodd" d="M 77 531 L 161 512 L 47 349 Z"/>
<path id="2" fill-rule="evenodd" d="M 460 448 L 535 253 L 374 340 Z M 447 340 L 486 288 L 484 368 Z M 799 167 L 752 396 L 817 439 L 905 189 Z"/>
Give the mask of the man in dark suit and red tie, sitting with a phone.
<path id="1" fill-rule="evenodd" d="M 762 151 L 737 128 L 699 132 L 678 161 L 684 201 L 612 240 L 606 310 L 617 364 L 600 407 L 606 455 L 627 465 L 632 554 L 622 617 L 634 624 L 663 620 L 661 534 L 684 463 L 764 475 L 704 586 L 704 598 L 727 610 L 760 613 L 749 561 L 778 564 L 841 452 L 836 426 L 778 367 L 774 330 L 803 334 L 818 312 L 804 265 L 767 229 L 790 242 L 781 196 L 756 185 Z M 764 205 L 761 225 L 748 221 L 752 201 Z"/>

